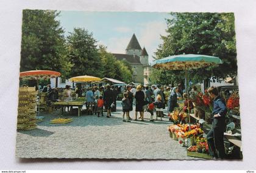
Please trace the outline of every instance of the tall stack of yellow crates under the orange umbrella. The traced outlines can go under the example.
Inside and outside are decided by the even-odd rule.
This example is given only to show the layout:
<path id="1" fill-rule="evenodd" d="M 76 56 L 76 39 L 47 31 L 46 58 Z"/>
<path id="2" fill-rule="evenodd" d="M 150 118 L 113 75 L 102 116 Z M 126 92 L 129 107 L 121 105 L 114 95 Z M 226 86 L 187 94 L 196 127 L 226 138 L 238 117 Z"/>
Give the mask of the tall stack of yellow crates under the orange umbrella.
<path id="1" fill-rule="evenodd" d="M 20 87 L 18 104 L 18 130 L 31 130 L 37 128 L 36 124 L 36 98 L 35 87 Z"/>

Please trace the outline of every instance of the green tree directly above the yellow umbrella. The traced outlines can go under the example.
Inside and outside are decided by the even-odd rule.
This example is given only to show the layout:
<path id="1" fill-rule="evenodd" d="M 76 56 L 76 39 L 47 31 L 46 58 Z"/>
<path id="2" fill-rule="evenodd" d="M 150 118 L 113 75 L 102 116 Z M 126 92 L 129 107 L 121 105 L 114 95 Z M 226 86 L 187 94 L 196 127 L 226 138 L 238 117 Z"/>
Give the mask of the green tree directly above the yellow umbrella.
<path id="1" fill-rule="evenodd" d="M 82 28 L 74 28 L 67 37 L 68 57 L 74 66 L 70 76 L 104 76 L 102 61 L 93 34 Z"/>

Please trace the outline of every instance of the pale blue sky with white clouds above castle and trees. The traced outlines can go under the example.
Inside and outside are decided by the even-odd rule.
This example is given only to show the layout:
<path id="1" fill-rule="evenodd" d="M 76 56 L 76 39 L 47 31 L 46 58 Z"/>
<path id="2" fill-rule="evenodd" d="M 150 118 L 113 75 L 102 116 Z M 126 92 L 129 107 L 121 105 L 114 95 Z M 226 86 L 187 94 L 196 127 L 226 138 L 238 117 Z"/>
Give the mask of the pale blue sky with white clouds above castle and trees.
<path id="1" fill-rule="evenodd" d="M 166 35 L 165 18 L 169 18 L 168 13 L 61 11 L 57 19 L 65 29 L 65 35 L 74 27 L 84 27 L 112 53 L 125 53 L 135 33 L 141 48 L 146 47 L 152 61 L 151 56 L 162 43 L 160 35 Z"/>

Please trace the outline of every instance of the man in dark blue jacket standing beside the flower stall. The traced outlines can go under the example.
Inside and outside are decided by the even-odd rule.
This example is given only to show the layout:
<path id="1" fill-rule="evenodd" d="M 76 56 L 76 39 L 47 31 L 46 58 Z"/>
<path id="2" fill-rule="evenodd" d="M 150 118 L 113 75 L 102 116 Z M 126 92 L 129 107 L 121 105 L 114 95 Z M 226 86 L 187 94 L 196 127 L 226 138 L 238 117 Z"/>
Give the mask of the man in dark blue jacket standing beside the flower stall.
<path id="1" fill-rule="evenodd" d="M 225 117 L 227 114 L 226 103 L 219 96 L 218 89 L 216 87 L 210 87 L 208 89 L 210 97 L 213 99 L 213 123 L 212 129 L 207 134 L 207 143 L 209 147 L 209 154 L 213 158 L 225 158 L 224 149 L 224 131 L 226 128 Z"/>

